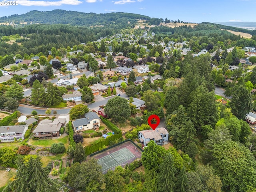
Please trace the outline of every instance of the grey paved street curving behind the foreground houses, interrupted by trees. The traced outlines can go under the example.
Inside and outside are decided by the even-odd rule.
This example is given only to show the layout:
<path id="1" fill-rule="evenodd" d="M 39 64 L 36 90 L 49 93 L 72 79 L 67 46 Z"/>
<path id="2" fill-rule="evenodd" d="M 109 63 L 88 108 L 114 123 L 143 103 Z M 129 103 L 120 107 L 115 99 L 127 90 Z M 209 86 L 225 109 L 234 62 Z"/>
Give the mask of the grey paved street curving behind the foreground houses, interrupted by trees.
<path id="1" fill-rule="evenodd" d="M 100 100 L 98 102 L 95 102 L 95 103 L 92 103 L 92 104 L 88 104 L 88 108 L 90 108 L 91 110 L 92 109 L 98 109 L 99 106 L 101 105 L 105 105 L 108 100 L 110 100 L 110 98 L 113 98 L 115 96 L 110 96 L 110 97 L 107 97 L 107 98 L 104 98 L 103 100 Z M 128 98 L 128 96 L 126 96 L 124 93 L 121 94 L 121 97 L 123 98 Z M 57 111 L 57 114 L 58 115 L 66 115 L 69 113 L 70 109 L 72 107 L 67 107 L 67 108 L 61 108 L 61 109 L 52 109 L 52 114 L 53 114 L 53 111 Z M 40 108 L 40 107 L 30 107 L 30 106 L 25 106 L 25 105 L 22 105 L 22 106 L 19 106 L 18 110 L 22 113 L 22 114 L 25 114 L 25 115 L 30 115 L 31 112 L 33 110 L 37 111 L 38 112 L 38 115 L 45 115 L 45 111 L 46 111 L 47 108 Z M 51 109 L 51 108 L 50 108 Z"/>

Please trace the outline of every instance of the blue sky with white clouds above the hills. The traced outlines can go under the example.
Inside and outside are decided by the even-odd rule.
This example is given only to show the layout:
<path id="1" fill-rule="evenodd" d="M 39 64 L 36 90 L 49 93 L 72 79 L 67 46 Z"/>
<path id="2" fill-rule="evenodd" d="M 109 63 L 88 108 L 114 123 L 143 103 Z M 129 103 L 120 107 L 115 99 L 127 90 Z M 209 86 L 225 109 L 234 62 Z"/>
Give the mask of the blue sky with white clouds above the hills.
<path id="1" fill-rule="evenodd" d="M 0 0 L 1 4 L 6 0 Z M 129 12 L 184 22 L 256 22 L 256 0 L 16 0 L 1 6 L 0 17 L 31 10 L 54 9 L 80 12 Z"/>

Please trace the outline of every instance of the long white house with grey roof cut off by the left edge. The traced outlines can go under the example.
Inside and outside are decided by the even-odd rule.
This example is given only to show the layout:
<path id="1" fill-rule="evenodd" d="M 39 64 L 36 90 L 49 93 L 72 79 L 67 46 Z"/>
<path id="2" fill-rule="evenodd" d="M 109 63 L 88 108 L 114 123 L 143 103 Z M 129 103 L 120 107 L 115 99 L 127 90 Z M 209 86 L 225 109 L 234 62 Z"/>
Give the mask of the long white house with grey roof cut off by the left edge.
<path id="1" fill-rule="evenodd" d="M 15 140 L 24 140 L 28 125 L 14 125 L 0 127 L 1 142 L 13 142 Z"/>

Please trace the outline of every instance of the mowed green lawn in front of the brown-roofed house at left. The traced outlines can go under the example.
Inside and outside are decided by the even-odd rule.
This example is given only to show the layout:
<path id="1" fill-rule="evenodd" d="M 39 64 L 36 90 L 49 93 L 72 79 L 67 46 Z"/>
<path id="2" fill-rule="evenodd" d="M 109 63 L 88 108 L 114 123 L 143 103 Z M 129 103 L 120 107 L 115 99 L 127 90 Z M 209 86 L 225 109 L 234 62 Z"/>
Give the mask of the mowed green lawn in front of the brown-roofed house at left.
<path id="1" fill-rule="evenodd" d="M 43 140 L 32 140 L 30 139 L 29 144 L 38 147 L 50 147 L 54 143 L 63 143 L 65 147 L 68 147 L 68 136 L 59 139 L 43 139 Z"/>

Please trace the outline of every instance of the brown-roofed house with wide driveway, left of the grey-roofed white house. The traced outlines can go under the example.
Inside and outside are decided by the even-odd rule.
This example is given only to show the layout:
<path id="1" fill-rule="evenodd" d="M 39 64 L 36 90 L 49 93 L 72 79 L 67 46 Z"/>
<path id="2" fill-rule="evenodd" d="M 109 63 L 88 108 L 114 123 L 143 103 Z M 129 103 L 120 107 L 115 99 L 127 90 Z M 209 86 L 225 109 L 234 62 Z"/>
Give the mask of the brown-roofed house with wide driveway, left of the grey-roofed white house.
<path id="1" fill-rule="evenodd" d="M 66 123 L 66 118 L 56 118 L 53 121 L 50 119 L 42 120 L 33 131 L 34 137 L 47 139 L 60 136 L 60 128 Z"/>

